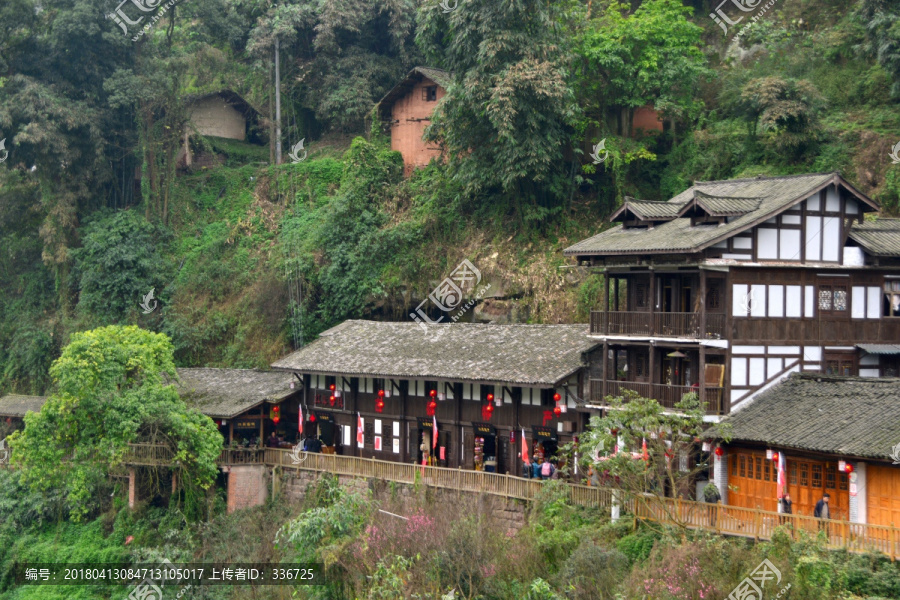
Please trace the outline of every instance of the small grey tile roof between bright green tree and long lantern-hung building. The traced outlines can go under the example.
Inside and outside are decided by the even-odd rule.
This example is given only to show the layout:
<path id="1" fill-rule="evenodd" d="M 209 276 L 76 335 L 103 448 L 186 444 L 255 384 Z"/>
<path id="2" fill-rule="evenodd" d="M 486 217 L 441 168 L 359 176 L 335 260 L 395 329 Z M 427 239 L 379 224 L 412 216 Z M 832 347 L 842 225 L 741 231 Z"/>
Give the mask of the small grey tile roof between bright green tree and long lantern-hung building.
<path id="1" fill-rule="evenodd" d="M 230 419 L 265 401 L 277 402 L 300 391 L 290 373 L 256 369 L 178 369 L 178 393 L 203 414 Z"/>

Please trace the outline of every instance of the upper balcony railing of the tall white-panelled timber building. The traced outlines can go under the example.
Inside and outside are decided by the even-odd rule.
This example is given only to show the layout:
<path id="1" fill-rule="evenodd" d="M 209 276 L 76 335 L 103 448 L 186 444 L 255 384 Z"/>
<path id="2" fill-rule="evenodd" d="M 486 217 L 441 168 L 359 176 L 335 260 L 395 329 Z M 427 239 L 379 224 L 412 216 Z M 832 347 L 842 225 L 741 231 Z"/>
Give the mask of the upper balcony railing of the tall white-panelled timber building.
<path id="1" fill-rule="evenodd" d="M 725 315 L 706 313 L 651 313 L 646 311 L 591 311 L 591 333 L 597 335 L 642 335 L 690 339 L 725 337 Z"/>

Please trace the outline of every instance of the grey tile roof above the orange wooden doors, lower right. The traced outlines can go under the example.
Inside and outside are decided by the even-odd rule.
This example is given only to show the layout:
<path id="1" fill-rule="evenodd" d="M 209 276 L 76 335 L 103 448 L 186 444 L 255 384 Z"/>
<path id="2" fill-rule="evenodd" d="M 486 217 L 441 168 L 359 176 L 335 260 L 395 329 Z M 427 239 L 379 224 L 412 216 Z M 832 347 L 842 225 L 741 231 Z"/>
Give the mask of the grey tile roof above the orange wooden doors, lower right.
<path id="1" fill-rule="evenodd" d="M 900 379 L 795 373 L 723 422 L 732 442 L 888 459 L 900 443 Z"/>

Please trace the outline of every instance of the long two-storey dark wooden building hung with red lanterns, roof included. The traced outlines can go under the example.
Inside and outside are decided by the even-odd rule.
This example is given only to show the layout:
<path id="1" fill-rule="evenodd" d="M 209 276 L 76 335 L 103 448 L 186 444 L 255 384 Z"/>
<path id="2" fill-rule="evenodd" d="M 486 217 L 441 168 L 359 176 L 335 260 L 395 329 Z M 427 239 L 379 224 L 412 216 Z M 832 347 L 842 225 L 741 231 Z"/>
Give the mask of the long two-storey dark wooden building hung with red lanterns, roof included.
<path id="1" fill-rule="evenodd" d="M 305 433 L 327 452 L 519 474 L 522 430 L 548 455 L 583 430 L 586 325 L 440 327 L 346 321 L 272 366 L 303 382 Z"/>

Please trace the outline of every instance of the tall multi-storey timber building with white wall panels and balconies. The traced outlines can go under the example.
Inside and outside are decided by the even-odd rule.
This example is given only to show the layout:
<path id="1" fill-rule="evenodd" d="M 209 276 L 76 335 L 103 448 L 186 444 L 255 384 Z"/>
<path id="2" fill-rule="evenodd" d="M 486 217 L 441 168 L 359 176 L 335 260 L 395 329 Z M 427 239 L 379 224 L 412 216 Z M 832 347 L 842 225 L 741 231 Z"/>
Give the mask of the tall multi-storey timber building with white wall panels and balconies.
<path id="1" fill-rule="evenodd" d="M 900 221 L 838 173 L 697 182 L 628 198 L 565 250 L 605 275 L 593 406 L 696 391 L 715 421 L 793 372 L 894 375 Z"/>

